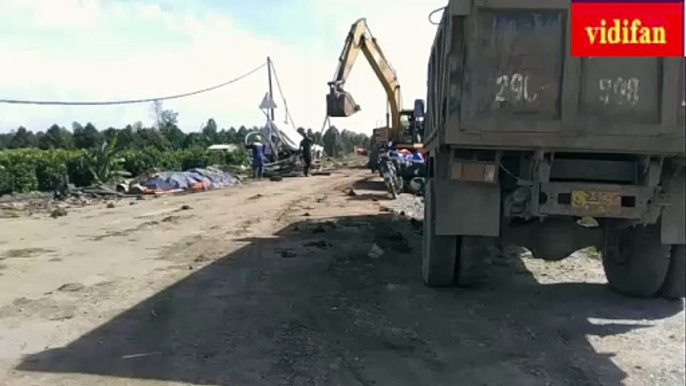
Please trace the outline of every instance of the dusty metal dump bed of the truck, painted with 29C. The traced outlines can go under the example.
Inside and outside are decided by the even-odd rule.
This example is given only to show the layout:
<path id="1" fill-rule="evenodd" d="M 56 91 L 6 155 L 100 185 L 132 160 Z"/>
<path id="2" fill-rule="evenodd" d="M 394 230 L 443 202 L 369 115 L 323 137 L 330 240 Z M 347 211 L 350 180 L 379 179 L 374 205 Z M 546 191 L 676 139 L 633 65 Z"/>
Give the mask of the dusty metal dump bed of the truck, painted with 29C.
<path id="1" fill-rule="evenodd" d="M 569 6 L 449 2 L 429 60 L 429 148 L 684 154 L 684 58 L 571 57 Z"/>

